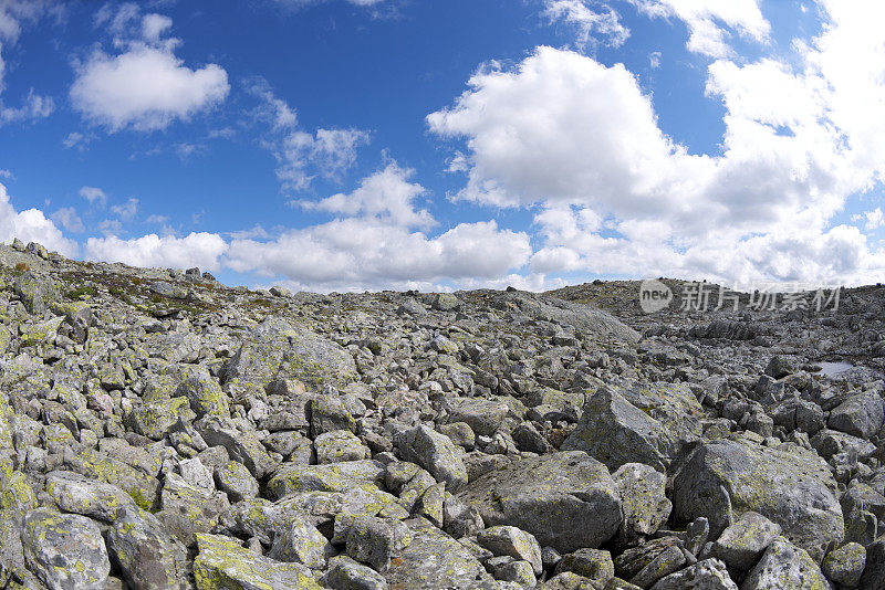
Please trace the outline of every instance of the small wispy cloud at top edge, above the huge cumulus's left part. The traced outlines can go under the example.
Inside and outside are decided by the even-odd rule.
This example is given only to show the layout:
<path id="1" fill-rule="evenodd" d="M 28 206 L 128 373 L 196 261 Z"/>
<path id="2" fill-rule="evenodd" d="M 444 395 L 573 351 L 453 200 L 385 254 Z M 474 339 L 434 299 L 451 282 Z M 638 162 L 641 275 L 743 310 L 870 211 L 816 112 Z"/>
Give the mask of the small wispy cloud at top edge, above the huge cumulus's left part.
<path id="1" fill-rule="evenodd" d="M 620 14 L 608 4 L 596 0 L 544 0 L 544 15 L 550 22 L 563 21 L 576 31 L 575 44 L 584 49 L 602 38 L 606 45 L 620 48 L 629 36 Z"/>

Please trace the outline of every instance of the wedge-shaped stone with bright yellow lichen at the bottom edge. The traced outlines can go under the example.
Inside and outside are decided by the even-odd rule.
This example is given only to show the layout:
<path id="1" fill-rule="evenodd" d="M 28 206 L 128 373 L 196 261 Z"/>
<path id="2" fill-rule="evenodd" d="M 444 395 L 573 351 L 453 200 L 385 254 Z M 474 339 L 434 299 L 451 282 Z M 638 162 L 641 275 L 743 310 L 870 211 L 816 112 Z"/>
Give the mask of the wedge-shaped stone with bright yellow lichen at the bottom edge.
<path id="1" fill-rule="evenodd" d="M 197 590 L 321 590 L 308 568 L 261 557 L 236 540 L 198 534 L 194 559 Z"/>

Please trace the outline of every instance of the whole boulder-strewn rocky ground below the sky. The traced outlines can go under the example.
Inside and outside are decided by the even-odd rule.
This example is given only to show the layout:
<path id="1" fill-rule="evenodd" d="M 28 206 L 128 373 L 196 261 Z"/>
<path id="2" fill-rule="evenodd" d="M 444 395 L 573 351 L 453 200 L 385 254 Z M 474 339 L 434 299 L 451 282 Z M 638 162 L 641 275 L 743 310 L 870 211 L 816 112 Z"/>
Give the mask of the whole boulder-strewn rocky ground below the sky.
<path id="1" fill-rule="evenodd" d="M 645 315 L 0 266 L 0 588 L 885 588 L 883 287 Z"/>

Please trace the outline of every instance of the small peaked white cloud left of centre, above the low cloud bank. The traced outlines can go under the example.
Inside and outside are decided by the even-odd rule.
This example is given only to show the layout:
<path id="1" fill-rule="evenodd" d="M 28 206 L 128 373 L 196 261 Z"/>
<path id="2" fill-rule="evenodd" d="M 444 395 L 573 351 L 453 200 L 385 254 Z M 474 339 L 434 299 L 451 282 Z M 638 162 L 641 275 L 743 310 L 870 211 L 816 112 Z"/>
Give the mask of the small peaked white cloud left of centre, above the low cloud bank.
<path id="1" fill-rule="evenodd" d="M 428 229 L 436 221 L 426 210 L 415 210 L 415 199 L 426 194 L 427 190 L 408 181 L 414 172 L 393 162 L 384 170 L 364 178 L 360 187 L 348 194 L 339 193 L 319 202 L 300 201 L 298 204 L 347 217 L 374 218 L 404 228 Z"/>

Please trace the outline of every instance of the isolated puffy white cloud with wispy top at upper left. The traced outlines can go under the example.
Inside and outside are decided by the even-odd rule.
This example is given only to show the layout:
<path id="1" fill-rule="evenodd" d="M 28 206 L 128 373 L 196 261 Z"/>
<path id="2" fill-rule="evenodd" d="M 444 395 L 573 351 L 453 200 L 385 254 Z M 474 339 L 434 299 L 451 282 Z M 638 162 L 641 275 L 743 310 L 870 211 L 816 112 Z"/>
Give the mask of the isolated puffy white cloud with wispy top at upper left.
<path id="1" fill-rule="evenodd" d="M 113 14 L 100 11 L 96 23 L 125 51 L 112 55 L 97 49 L 75 64 L 71 102 L 93 124 L 111 131 L 163 129 L 227 97 L 228 75 L 220 65 L 191 69 L 175 55 L 180 40 L 163 39 L 171 27 L 167 17 L 142 17 L 136 6 L 124 4 Z"/>

